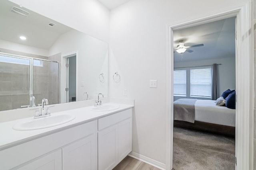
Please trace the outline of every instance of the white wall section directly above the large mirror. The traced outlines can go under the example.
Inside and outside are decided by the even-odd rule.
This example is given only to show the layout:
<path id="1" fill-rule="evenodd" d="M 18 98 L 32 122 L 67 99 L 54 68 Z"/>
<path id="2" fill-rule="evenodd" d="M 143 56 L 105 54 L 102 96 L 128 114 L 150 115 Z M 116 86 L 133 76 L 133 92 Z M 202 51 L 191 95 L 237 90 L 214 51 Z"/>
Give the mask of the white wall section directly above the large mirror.
<path id="1" fill-rule="evenodd" d="M 10 0 L 38 14 L 109 41 L 110 11 L 98 0 Z"/>

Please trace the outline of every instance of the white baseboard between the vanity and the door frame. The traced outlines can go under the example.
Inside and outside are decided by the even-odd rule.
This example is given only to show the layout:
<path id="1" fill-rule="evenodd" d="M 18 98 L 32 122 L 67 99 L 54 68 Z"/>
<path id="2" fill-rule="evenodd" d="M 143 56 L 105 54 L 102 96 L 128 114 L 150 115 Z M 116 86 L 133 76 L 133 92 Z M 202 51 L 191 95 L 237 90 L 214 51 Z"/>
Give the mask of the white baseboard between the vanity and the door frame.
<path id="1" fill-rule="evenodd" d="M 136 152 L 130 152 L 128 154 L 128 156 L 131 156 L 132 158 L 135 158 L 135 159 L 138 159 L 142 162 L 145 162 L 146 164 L 150 164 L 150 165 L 152 165 L 152 166 L 154 166 L 154 167 L 156 167 L 160 170 L 166 170 L 166 165 L 165 164 L 163 164 L 161 162 L 158 162 L 154 159 L 148 158 L 146 156 L 143 156 L 141 154 L 138 154 Z"/>

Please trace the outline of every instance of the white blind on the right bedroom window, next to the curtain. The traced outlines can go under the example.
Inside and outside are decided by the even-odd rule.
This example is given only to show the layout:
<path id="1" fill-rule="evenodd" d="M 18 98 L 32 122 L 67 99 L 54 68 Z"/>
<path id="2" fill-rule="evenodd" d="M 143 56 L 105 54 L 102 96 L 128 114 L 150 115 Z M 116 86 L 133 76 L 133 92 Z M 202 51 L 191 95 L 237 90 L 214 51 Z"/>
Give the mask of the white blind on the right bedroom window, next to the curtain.
<path id="1" fill-rule="evenodd" d="M 190 69 L 190 97 L 212 97 L 212 68 Z"/>

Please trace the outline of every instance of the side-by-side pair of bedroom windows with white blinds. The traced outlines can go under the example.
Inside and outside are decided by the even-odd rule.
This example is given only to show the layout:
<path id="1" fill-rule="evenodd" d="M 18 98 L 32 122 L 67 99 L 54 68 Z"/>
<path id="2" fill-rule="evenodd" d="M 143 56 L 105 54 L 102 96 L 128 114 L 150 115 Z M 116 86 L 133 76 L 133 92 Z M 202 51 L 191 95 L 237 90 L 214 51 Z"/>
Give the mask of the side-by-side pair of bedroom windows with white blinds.
<path id="1" fill-rule="evenodd" d="M 174 96 L 212 98 L 212 67 L 174 70 Z"/>

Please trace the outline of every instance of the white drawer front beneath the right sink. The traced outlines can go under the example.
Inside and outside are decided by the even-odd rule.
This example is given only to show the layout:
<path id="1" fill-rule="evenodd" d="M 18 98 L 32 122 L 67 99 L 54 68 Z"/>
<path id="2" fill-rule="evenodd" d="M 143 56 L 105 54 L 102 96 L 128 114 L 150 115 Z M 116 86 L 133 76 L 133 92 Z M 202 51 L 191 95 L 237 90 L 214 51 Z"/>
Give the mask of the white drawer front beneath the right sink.
<path id="1" fill-rule="evenodd" d="M 114 125 L 122 120 L 132 117 L 132 109 L 127 109 L 113 115 L 98 119 L 98 130 Z"/>

